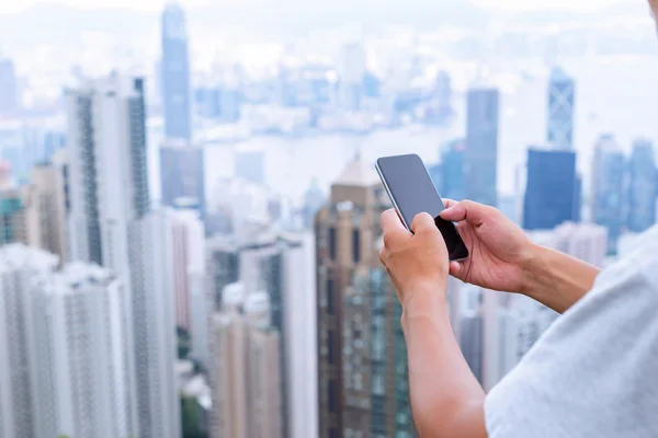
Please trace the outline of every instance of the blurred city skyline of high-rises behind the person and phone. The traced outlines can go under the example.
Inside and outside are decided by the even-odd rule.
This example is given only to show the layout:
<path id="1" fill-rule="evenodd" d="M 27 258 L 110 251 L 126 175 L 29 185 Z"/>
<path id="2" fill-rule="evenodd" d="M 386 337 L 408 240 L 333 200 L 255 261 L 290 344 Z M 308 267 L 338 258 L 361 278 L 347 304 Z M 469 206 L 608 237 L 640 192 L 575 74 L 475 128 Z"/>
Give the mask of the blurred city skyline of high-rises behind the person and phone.
<path id="1" fill-rule="evenodd" d="M 377 157 L 599 267 L 656 222 L 644 3 L 288 3 L 0 9 L 0 437 L 416 436 Z M 447 300 L 487 391 L 558 316 Z"/>

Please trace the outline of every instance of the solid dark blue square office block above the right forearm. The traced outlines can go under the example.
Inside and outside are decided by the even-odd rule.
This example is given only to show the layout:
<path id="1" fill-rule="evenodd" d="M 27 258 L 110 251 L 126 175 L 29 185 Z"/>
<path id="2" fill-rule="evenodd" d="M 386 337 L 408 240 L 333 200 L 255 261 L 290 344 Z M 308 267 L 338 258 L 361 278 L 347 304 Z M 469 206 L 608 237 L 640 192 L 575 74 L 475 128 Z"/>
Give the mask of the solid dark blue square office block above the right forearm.
<path id="1" fill-rule="evenodd" d="M 580 216 L 576 152 L 527 149 L 523 228 L 551 230 Z"/>

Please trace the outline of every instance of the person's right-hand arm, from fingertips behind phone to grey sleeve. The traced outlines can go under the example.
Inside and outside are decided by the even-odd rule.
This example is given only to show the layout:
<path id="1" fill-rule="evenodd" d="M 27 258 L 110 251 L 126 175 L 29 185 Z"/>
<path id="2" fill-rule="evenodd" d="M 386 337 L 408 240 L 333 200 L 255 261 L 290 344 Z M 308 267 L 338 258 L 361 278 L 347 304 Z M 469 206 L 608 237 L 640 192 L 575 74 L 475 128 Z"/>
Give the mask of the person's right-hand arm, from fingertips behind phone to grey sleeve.
<path id="1" fill-rule="evenodd" d="M 591 289 L 599 269 L 533 243 L 502 212 L 470 200 L 446 200 L 443 219 L 458 222 L 469 257 L 450 273 L 487 289 L 526 295 L 564 312 Z"/>

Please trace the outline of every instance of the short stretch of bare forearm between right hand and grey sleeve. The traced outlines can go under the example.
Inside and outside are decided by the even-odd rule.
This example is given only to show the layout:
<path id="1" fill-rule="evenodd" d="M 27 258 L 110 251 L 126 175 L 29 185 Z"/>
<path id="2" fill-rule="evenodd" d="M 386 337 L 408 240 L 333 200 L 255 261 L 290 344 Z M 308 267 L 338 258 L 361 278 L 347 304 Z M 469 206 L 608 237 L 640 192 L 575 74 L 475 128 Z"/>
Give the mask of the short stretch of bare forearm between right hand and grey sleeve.
<path id="1" fill-rule="evenodd" d="M 535 246 L 525 272 L 522 292 L 563 313 L 592 288 L 600 270 L 558 251 Z"/>

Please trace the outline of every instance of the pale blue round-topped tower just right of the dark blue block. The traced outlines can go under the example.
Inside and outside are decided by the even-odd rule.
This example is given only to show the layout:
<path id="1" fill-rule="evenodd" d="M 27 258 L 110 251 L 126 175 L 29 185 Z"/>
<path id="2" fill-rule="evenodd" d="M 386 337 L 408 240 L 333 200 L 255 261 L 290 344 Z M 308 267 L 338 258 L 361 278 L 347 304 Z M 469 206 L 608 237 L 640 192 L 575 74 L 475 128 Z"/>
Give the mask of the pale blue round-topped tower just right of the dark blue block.
<path id="1" fill-rule="evenodd" d="M 608 250 L 616 253 L 624 226 L 626 160 L 612 135 L 602 135 L 592 164 L 592 220 L 608 228 Z"/>

